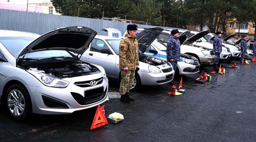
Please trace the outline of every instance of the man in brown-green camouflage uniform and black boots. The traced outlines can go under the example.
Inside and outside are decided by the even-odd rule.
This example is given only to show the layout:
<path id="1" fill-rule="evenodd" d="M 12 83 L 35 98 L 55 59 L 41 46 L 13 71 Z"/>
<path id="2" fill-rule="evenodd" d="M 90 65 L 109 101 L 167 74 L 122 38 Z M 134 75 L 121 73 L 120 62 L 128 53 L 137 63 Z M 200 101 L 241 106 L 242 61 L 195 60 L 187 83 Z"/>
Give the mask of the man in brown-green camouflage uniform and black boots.
<path id="1" fill-rule="evenodd" d="M 127 33 L 124 39 L 120 41 L 119 45 L 119 69 L 121 70 L 121 83 L 120 83 L 120 101 L 130 103 L 134 101 L 128 93 L 132 87 L 134 80 L 135 70 L 139 67 L 139 54 L 138 54 L 138 41 L 137 25 L 127 25 Z"/>

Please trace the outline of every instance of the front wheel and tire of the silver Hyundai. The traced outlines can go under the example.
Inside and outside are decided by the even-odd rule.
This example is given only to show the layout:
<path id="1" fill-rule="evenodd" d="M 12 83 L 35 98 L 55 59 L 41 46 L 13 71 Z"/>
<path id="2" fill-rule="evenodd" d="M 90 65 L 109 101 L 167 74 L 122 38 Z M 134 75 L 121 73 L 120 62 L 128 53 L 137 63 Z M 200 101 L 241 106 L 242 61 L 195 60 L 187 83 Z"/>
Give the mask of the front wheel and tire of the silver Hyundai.
<path id="1" fill-rule="evenodd" d="M 11 85 L 6 91 L 5 107 L 16 121 L 25 121 L 32 114 L 32 103 L 28 91 L 20 84 Z"/>

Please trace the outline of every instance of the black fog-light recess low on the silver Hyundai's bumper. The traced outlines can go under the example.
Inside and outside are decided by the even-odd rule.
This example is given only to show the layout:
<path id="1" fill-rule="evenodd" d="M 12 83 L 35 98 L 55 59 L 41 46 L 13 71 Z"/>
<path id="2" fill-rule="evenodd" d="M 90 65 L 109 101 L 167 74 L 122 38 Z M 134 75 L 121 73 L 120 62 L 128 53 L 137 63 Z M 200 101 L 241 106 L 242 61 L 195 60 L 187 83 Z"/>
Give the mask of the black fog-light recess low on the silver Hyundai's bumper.
<path id="1" fill-rule="evenodd" d="M 44 105 L 46 107 L 56 108 L 56 109 L 68 109 L 68 105 L 66 105 L 65 103 L 62 103 L 60 101 L 57 101 L 56 99 L 52 99 L 52 98 L 46 97 L 44 95 L 42 95 L 42 99 L 43 99 Z"/>

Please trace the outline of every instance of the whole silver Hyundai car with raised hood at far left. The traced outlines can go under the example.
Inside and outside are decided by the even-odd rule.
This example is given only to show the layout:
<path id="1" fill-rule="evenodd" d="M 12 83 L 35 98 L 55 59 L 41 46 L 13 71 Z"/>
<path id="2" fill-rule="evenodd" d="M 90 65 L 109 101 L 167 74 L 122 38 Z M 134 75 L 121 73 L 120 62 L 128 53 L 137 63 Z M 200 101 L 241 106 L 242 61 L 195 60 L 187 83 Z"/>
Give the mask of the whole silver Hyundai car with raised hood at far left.
<path id="1" fill-rule="evenodd" d="M 0 30 L 0 103 L 15 120 L 32 113 L 70 114 L 108 100 L 104 68 L 82 62 L 96 35 L 64 27 L 42 36 Z"/>

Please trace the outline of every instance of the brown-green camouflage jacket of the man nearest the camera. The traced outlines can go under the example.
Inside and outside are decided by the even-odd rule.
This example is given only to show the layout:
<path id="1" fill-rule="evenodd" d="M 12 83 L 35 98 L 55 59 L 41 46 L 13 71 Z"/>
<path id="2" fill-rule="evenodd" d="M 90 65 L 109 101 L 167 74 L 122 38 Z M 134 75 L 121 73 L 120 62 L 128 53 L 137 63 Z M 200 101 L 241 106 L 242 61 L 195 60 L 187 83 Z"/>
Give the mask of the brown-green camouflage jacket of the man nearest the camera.
<path id="1" fill-rule="evenodd" d="M 128 33 L 124 35 L 124 39 L 119 44 L 119 69 L 135 70 L 139 65 L 138 41 L 132 38 Z"/>

